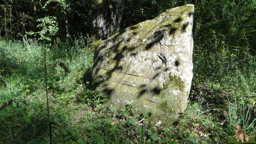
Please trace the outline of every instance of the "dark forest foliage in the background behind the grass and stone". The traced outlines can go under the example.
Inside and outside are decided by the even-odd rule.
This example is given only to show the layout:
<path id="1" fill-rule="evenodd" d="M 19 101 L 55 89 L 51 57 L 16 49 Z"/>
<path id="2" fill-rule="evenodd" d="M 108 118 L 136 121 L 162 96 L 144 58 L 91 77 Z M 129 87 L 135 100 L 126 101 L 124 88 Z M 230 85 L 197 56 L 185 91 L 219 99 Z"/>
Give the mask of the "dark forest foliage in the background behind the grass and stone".
<path id="1" fill-rule="evenodd" d="M 24 19 L 23 15 L 31 16 L 34 20 L 51 15 L 46 2 L 47 0 L 1 0 L 1 36 L 20 39 L 25 32 L 42 30 L 36 27 L 40 22 Z M 166 9 L 184 4 L 195 5 L 193 32 L 196 45 L 204 45 L 209 49 L 215 43 L 215 37 L 228 43 L 229 48 L 255 45 L 256 4 L 249 0 L 126 0 L 120 30 L 153 19 Z M 91 33 L 92 0 L 60 0 L 53 14 L 58 20 L 59 36 L 74 38 L 78 34 L 86 36 Z M 63 25 L 65 21 L 66 25 Z M 253 50 L 251 52 L 254 53 Z"/>

